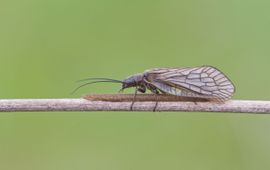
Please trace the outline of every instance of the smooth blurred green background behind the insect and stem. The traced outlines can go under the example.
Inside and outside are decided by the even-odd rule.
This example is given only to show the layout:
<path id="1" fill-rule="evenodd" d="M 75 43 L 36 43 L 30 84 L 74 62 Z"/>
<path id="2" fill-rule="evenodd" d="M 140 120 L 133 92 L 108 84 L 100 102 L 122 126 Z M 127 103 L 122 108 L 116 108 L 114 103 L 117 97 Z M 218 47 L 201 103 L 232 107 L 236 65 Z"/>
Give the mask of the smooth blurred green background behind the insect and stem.
<path id="1" fill-rule="evenodd" d="M 235 99 L 270 98 L 270 1 L 1 0 L 1 98 L 116 93 L 153 67 L 213 65 Z M 133 92 L 129 90 L 128 92 Z M 0 169 L 266 170 L 270 117 L 227 113 L 1 113 Z"/>

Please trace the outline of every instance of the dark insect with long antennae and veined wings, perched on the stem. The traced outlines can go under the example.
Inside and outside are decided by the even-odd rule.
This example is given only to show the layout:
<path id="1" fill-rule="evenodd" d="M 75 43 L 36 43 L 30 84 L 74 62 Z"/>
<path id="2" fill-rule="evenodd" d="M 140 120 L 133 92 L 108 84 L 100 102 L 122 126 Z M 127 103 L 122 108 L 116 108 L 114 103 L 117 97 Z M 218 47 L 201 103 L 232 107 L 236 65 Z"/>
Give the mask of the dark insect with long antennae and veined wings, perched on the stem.
<path id="1" fill-rule="evenodd" d="M 74 92 L 88 84 L 100 82 L 121 83 L 122 88 L 120 91 L 135 87 L 134 100 L 138 91 L 145 93 L 147 89 L 154 94 L 198 97 L 219 102 L 229 100 L 235 92 L 235 87 L 229 78 L 212 66 L 154 68 L 141 74 L 132 75 L 122 81 L 109 78 L 88 78 L 81 81 L 86 80 L 92 81 L 79 86 Z M 156 107 L 157 102 L 154 110 Z"/>

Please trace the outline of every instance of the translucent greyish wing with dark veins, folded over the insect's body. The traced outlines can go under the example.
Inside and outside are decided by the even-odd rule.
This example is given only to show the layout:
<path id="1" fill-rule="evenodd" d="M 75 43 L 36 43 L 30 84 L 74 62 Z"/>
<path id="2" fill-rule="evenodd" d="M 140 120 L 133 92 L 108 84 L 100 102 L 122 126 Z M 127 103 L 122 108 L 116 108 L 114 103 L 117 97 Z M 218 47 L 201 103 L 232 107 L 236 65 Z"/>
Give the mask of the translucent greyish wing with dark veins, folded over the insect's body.
<path id="1" fill-rule="evenodd" d="M 212 66 L 192 68 L 156 68 L 146 70 L 148 82 L 161 91 L 188 97 L 228 100 L 235 92 L 232 82 Z"/>

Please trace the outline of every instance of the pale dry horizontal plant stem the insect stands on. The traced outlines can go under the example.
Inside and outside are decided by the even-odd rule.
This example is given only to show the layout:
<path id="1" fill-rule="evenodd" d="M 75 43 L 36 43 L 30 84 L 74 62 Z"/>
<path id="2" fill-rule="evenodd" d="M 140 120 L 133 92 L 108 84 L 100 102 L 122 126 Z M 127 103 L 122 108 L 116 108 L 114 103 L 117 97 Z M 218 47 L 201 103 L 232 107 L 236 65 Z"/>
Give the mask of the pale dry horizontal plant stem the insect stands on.
<path id="1" fill-rule="evenodd" d="M 137 96 L 133 111 L 153 111 L 156 100 L 148 101 L 152 95 L 138 94 Z M 132 101 L 129 98 L 133 98 L 133 95 L 106 95 L 113 100 L 95 101 L 100 97 L 101 95 L 90 95 L 90 98 L 86 96 L 88 99 L 2 99 L 0 100 L 0 111 L 130 111 Z M 125 98 L 125 100 L 118 101 L 118 97 Z M 158 97 L 159 103 L 156 111 L 270 113 L 270 101 L 230 100 L 225 103 L 216 103 L 177 101 L 176 99 L 174 101 L 161 100 L 165 98 L 166 96 Z"/>

